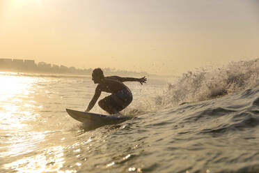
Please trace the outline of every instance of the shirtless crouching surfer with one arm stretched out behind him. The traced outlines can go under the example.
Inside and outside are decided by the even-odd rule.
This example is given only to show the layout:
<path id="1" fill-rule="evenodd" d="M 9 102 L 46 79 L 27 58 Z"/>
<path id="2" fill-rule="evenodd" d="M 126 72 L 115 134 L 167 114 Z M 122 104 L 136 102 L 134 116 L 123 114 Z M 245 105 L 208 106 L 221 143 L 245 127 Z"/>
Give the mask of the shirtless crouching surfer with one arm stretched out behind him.
<path id="1" fill-rule="evenodd" d="M 132 92 L 123 84 L 123 82 L 140 82 L 146 83 L 146 77 L 134 78 L 134 77 L 119 77 L 119 76 L 107 76 L 104 77 L 104 73 L 100 68 L 95 68 L 92 73 L 92 80 L 95 84 L 98 84 L 95 89 L 95 95 L 90 101 L 85 112 L 89 112 L 96 101 L 101 95 L 101 92 L 111 93 L 98 102 L 98 105 L 109 114 L 116 114 L 125 109 L 132 102 Z"/>

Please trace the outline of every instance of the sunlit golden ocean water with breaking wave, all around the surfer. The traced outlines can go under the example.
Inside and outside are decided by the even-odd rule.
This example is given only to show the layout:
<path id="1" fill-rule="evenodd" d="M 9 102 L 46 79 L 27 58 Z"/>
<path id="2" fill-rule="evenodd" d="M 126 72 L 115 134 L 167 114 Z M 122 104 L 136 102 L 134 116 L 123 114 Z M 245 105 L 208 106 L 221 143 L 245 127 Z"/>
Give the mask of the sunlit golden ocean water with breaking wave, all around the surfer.
<path id="1" fill-rule="evenodd" d="M 91 77 L 0 73 L 0 172 L 259 172 L 258 59 L 147 78 L 125 82 L 132 119 L 88 128 L 65 108 Z"/>

